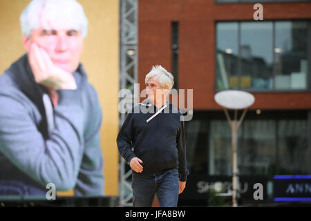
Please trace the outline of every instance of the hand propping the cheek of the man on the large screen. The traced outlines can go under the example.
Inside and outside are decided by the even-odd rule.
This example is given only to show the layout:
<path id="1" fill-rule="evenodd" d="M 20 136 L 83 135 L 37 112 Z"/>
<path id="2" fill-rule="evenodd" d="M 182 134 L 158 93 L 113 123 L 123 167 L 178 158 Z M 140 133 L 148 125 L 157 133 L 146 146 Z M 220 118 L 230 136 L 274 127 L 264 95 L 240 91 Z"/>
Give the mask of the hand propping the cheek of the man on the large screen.
<path id="1" fill-rule="evenodd" d="M 36 44 L 32 44 L 28 57 L 30 68 L 38 84 L 54 90 L 77 89 L 73 75 L 53 64 L 48 52 L 44 48 L 39 48 Z"/>

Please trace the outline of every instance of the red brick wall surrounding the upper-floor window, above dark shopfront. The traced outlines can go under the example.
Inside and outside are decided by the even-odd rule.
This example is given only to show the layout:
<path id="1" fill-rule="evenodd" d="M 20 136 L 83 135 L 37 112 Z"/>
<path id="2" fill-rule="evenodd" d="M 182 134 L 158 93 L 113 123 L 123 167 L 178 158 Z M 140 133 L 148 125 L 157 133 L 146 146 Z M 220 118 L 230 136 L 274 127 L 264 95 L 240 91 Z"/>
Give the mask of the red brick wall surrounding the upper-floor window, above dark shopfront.
<path id="1" fill-rule="evenodd" d="M 194 109 L 220 109 L 215 95 L 215 22 L 253 20 L 254 3 L 138 0 L 138 81 L 151 66 L 171 71 L 171 21 L 179 21 L 179 88 L 194 89 Z M 311 19 L 311 3 L 262 3 L 263 19 Z M 310 40 L 311 42 L 311 40 Z M 263 43 L 264 44 L 264 43 Z M 311 108 L 311 93 L 253 93 L 251 109 Z M 141 99 L 142 100 L 142 99 Z"/>

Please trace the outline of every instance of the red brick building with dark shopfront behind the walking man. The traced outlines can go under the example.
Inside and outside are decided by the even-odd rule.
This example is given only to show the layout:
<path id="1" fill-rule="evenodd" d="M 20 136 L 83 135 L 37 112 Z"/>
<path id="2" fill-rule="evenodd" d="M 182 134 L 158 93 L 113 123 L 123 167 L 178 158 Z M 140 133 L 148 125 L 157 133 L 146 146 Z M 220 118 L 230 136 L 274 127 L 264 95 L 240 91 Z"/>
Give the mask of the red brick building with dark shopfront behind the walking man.
<path id="1" fill-rule="evenodd" d="M 311 201 L 310 1 L 138 2 L 140 85 L 161 64 L 175 88 L 194 89 L 180 205 L 217 205 L 225 201 L 217 193 L 232 188 L 231 131 L 214 102 L 226 89 L 256 99 L 238 133 L 240 204 Z M 263 21 L 253 19 L 255 3 L 263 5 Z M 264 200 L 253 198 L 257 182 Z"/>

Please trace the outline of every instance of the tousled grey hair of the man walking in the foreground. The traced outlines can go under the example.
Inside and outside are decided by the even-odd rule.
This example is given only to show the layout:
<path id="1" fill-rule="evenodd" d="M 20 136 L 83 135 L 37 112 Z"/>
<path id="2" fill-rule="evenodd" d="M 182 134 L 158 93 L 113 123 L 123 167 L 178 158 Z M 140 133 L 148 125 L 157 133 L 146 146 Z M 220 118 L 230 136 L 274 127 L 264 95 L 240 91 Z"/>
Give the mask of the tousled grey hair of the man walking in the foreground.
<path id="1" fill-rule="evenodd" d="M 144 79 L 144 83 L 147 84 L 147 81 L 151 77 L 158 77 L 159 84 L 161 88 L 165 86 L 169 86 L 169 90 L 173 88 L 174 85 L 174 77 L 171 73 L 169 73 L 165 68 L 160 65 L 152 66 L 151 71 L 146 75 Z"/>

